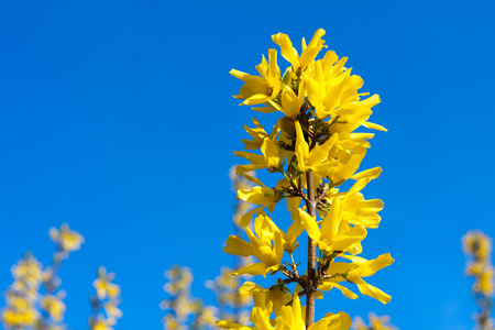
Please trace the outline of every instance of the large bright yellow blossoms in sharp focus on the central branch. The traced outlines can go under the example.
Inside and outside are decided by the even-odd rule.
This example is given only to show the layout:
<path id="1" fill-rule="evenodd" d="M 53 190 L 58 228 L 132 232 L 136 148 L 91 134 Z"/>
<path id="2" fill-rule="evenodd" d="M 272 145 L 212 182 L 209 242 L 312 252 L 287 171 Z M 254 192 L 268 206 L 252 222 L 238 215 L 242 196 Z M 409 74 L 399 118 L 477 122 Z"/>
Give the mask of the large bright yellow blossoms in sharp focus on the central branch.
<path id="1" fill-rule="evenodd" d="M 246 151 L 234 152 L 249 161 L 246 165 L 237 166 L 237 175 L 242 175 L 255 185 L 239 189 L 238 198 L 257 207 L 241 217 L 240 224 L 248 240 L 239 235 L 229 237 L 224 252 L 257 260 L 234 274 L 284 274 L 287 278 L 279 279 L 275 289 L 285 293 L 285 284 L 297 283 L 302 288 L 301 295 L 307 296 L 307 301 L 315 295 L 322 297 L 323 292 L 332 288 L 354 299 L 358 296 L 341 284 L 348 282 L 356 284 L 363 295 L 386 304 L 391 296 L 363 278 L 391 265 L 394 260 L 389 254 L 371 261 L 356 256 L 362 252 L 361 241 L 366 237 L 367 229 L 378 227 L 381 217 L 377 212 L 383 209 L 383 201 L 367 200 L 361 193 L 372 179 L 380 176 L 382 168 L 358 173 L 370 147 L 369 140 L 374 134 L 355 130 L 364 127 L 386 131 L 367 121 L 371 109 L 381 100 L 377 95 L 366 98 L 369 94 L 358 91 L 363 79 L 352 75 L 351 68 L 345 67 L 346 57 L 339 58 L 329 51 L 317 59 L 319 52 L 327 47 L 322 40 L 324 33 L 322 29 L 318 30 L 309 44 L 302 40 L 300 55 L 286 34 L 273 35 L 272 40 L 280 47 L 282 56 L 290 64 L 285 72 L 278 67 L 276 50 L 270 50 L 268 61 L 263 57 L 256 66 L 260 75 L 231 70 L 231 75 L 244 82 L 235 96 L 243 100 L 241 105 L 258 106 L 253 110 L 278 112 L 282 118 L 271 132 L 257 119 L 253 119 L 255 127 L 245 128 L 251 136 L 251 140 L 243 140 Z M 275 187 L 270 188 L 250 174 L 258 169 L 279 173 L 283 177 Z M 350 179 L 354 182 L 351 188 L 341 190 L 341 186 Z M 293 220 L 287 231 L 282 230 L 267 213 L 273 212 L 282 199 L 287 200 Z M 250 227 L 255 215 L 254 226 Z M 293 254 L 298 248 L 299 235 L 305 231 L 309 237 L 311 256 L 308 271 L 299 275 Z M 290 257 L 288 263 L 283 262 L 285 253 Z M 336 262 L 337 257 L 342 261 Z M 275 329 L 292 329 L 304 322 L 295 302 L 296 298 L 292 307 L 275 309 L 268 305 L 256 306 L 255 302 L 251 321 L 257 329 L 272 329 L 273 324 Z M 274 306 L 277 304 L 273 302 Z M 272 311 L 275 312 L 275 320 L 270 323 Z M 284 321 L 280 319 L 282 314 L 285 315 Z M 307 314 L 310 316 L 314 311 Z M 321 321 L 324 324 L 339 323 L 336 329 L 344 329 L 348 318 L 344 314 L 338 314 Z M 337 319 L 338 322 L 334 321 Z M 306 323 L 312 324 L 312 320 Z M 319 321 L 311 327 L 323 323 Z M 228 329 L 240 327 L 228 322 L 220 322 L 219 326 Z"/>

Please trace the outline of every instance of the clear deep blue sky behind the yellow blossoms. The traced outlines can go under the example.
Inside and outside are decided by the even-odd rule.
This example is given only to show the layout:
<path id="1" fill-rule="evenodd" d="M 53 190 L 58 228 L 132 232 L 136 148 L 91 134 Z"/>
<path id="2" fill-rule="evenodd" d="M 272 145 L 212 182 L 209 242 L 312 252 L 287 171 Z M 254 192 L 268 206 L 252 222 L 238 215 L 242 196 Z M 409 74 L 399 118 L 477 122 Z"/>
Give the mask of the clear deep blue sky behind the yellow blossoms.
<path id="1" fill-rule="evenodd" d="M 87 329 L 100 265 L 122 286 L 117 330 L 162 328 L 173 264 L 212 304 L 204 282 L 233 262 L 221 251 L 232 151 L 253 116 L 264 121 L 231 97 L 242 84 L 229 70 L 255 74 L 272 34 L 299 47 L 323 28 L 362 91 L 382 98 L 371 121 L 389 131 L 362 168 L 384 168 L 363 193 L 385 209 L 362 256 L 396 262 L 369 278 L 392 302 L 336 290 L 318 316 L 472 329 L 461 237 L 495 235 L 494 16 L 481 0 L 1 1 L 0 289 L 24 251 L 51 263 L 48 229 L 66 222 L 86 238 L 59 274 L 70 329 Z"/>

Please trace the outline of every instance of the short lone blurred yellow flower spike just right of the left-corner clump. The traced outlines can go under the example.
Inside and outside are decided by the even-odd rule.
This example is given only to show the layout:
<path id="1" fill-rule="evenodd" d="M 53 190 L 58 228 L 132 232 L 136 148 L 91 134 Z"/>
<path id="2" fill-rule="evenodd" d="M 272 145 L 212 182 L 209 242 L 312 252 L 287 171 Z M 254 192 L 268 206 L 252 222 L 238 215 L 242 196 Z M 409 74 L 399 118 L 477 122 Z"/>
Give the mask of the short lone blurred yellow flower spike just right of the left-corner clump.
<path id="1" fill-rule="evenodd" d="M 98 268 L 98 278 L 94 280 L 96 295 L 90 298 L 92 315 L 89 317 L 91 330 L 112 330 L 117 320 L 122 317 L 119 309 L 120 286 L 112 283 L 116 275 L 105 267 Z"/>

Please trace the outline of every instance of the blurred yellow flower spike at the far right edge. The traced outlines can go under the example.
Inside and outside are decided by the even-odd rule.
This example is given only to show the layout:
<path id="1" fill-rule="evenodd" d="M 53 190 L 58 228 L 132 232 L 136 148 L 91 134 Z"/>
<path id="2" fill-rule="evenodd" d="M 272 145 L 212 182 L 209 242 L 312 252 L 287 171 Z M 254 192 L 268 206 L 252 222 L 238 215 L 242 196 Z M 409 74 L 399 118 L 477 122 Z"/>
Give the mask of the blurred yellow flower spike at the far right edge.
<path id="1" fill-rule="evenodd" d="M 462 238 L 462 249 L 468 257 L 465 275 L 474 277 L 473 296 L 480 312 L 475 315 L 480 330 L 493 329 L 491 318 L 493 306 L 492 239 L 481 230 L 469 231 Z"/>

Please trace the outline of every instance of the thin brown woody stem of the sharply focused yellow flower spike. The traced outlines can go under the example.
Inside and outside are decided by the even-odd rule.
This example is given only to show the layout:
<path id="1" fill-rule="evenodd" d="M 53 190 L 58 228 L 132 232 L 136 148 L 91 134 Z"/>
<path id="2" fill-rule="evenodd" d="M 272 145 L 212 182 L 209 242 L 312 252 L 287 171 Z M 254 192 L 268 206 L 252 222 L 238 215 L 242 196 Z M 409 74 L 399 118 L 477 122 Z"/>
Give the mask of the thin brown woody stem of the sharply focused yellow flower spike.
<path id="1" fill-rule="evenodd" d="M 316 198 L 315 184 L 312 178 L 312 170 L 306 173 L 306 185 L 308 200 L 306 207 L 311 217 L 316 217 Z M 312 244 L 312 239 L 308 237 L 308 282 L 306 285 L 306 329 L 315 322 L 315 268 L 316 268 L 316 246 Z"/>

